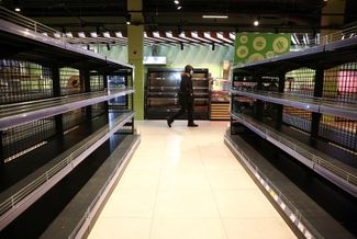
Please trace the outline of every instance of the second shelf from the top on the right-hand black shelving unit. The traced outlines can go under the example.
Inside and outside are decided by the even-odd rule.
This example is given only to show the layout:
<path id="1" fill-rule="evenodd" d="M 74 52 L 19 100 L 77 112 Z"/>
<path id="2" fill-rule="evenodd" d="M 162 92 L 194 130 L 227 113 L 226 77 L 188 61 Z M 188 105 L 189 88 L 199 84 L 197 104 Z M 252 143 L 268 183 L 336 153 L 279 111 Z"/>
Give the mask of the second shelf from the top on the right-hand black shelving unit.
<path id="1" fill-rule="evenodd" d="M 330 100 L 323 98 L 306 98 L 305 95 L 268 92 L 268 91 L 239 91 L 232 90 L 232 94 L 238 94 L 276 104 L 283 104 L 302 109 L 305 111 L 317 112 L 322 114 L 331 114 L 341 117 L 357 120 L 357 103 L 346 103 L 338 100 Z"/>

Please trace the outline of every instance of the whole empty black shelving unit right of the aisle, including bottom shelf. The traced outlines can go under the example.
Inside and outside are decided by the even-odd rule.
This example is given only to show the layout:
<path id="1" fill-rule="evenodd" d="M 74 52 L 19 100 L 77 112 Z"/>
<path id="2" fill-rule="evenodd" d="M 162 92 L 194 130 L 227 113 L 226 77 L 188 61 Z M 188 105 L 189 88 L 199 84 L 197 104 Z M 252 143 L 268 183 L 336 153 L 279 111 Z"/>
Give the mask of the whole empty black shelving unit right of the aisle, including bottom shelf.
<path id="1" fill-rule="evenodd" d="M 295 225 L 292 228 L 308 238 L 320 238 L 333 224 L 320 227 L 322 217 L 310 210 L 309 200 L 294 197 L 287 187 L 299 177 L 292 164 L 302 163 L 302 173 L 313 171 L 332 182 L 334 185 L 326 184 L 338 196 L 357 196 L 356 82 L 357 37 L 233 68 L 231 127 L 225 143 L 247 162 L 247 171 L 261 183 L 270 202 L 288 215 L 287 221 Z M 259 146 L 264 148 L 255 148 Z M 291 166 L 285 168 L 287 159 Z M 289 180 L 281 183 L 272 169 L 288 173 Z M 275 184 L 267 183 L 270 181 Z M 310 193 L 309 189 L 301 192 Z M 339 202 L 332 206 L 334 203 Z M 325 209 L 330 215 L 331 208 Z M 346 232 L 341 221 L 334 224 Z"/>

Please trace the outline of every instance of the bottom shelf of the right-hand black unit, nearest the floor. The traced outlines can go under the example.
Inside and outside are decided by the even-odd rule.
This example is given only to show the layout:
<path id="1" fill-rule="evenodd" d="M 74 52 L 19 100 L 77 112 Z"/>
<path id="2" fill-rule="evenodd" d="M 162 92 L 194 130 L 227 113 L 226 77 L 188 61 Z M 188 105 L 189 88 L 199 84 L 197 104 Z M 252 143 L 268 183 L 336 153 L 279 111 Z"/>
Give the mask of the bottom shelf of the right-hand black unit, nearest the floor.
<path id="1" fill-rule="evenodd" d="M 355 197 L 247 128 L 224 141 L 298 238 L 355 238 Z"/>

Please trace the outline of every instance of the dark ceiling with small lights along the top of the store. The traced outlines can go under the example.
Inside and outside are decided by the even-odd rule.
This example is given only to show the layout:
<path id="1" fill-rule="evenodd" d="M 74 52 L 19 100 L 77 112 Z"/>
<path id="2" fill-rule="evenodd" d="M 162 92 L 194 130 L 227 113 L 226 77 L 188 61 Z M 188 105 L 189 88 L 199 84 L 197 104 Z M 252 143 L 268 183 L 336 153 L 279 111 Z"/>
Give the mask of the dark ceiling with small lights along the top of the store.
<path id="1" fill-rule="evenodd" d="M 62 31 L 125 31 L 127 0 L 0 0 L 21 14 Z M 357 5 L 347 0 L 345 19 L 355 21 Z M 146 31 L 259 31 L 315 32 L 321 27 L 323 0 L 143 0 Z M 355 8 L 356 7 L 356 8 Z M 202 14 L 226 14 L 228 19 L 202 19 Z M 260 20 L 259 29 L 253 26 Z M 336 26 L 333 26 L 336 27 Z"/>

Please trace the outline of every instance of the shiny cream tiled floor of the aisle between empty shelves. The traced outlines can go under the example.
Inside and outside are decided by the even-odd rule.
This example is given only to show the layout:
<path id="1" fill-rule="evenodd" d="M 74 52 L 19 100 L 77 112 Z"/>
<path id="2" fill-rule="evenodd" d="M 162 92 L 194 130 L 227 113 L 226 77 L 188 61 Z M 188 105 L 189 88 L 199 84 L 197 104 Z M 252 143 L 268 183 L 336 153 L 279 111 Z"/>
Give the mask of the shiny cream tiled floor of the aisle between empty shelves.
<path id="1" fill-rule="evenodd" d="M 226 122 L 137 122 L 142 143 L 89 238 L 295 238 L 223 143 Z"/>

